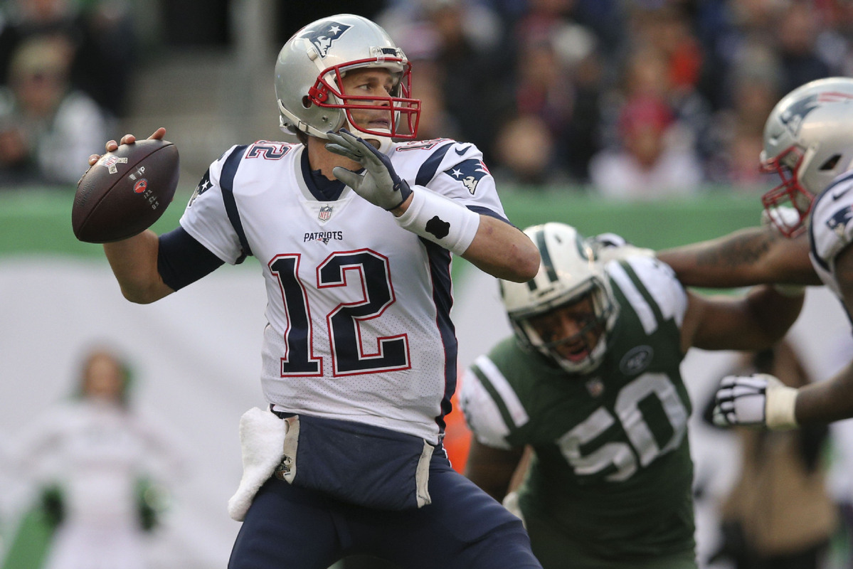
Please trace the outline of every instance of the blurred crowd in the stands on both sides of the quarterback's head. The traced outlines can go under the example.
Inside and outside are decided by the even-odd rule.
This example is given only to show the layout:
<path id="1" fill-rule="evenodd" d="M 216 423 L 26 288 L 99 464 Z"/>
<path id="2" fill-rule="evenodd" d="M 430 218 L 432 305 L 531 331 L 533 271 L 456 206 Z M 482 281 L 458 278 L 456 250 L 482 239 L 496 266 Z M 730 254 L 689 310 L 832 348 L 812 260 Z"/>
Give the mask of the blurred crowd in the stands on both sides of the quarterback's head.
<path id="1" fill-rule="evenodd" d="M 294 29 L 317 16 L 278 4 Z M 133 4 L 0 6 L 0 185 L 73 184 L 80 156 L 133 113 Z M 757 156 L 769 109 L 798 84 L 853 72 L 850 0 L 386 0 L 329 9 L 378 21 L 415 62 L 421 137 L 476 143 L 503 183 L 619 199 L 768 188 Z"/>

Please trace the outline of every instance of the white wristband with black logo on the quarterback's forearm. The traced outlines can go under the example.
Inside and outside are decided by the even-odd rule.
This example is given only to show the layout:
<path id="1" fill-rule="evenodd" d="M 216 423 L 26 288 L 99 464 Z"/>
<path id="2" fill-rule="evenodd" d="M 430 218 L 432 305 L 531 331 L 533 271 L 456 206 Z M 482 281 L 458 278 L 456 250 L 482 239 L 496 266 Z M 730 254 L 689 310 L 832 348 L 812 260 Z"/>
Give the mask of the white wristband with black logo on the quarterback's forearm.
<path id="1" fill-rule="evenodd" d="M 479 215 L 426 188 L 412 189 L 412 201 L 397 224 L 450 253 L 461 255 L 474 240 Z"/>

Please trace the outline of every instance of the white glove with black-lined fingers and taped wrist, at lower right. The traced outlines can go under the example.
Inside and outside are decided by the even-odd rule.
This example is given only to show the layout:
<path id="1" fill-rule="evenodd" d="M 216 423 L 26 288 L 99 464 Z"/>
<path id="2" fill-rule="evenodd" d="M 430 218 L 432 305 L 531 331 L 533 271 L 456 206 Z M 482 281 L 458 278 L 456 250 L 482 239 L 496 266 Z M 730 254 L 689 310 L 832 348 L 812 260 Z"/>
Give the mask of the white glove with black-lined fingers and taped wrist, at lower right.
<path id="1" fill-rule="evenodd" d="M 797 427 L 798 391 L 770 374 L 727 375 L 717 388 L 714 424 L 719 427 Z"/>

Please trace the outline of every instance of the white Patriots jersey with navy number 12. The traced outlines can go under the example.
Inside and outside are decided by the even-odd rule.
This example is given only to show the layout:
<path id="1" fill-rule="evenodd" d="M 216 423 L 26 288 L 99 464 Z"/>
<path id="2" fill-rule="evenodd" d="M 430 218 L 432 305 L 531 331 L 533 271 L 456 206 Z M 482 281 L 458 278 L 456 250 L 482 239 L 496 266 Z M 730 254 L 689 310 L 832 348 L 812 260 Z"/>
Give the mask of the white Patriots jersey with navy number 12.
<path id="1" fill-rule="evenodd" d="M 395 143 L 417 191 L 505 218 L 472 144 Z M 301 144 L 258 141 L 212 163 L 181 225 L 223 261 L 260 261 L 268 303 L 264 395 L 276 410 L 438 442 L 456 388 L 450 253 L 345 188 L 328 201 Z"/>

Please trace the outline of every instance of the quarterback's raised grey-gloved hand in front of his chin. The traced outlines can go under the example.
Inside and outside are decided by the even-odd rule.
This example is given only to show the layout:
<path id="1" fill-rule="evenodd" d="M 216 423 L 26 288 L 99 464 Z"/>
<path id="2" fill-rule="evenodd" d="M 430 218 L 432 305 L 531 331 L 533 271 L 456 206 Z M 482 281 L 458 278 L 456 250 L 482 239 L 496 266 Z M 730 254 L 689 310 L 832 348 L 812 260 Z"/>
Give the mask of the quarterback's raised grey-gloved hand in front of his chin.
<path id="1" fill-rule="evenodd" d="M 345 129 L 340 129 L 338 133 L 328 132 L 327 134 L 331 141 L 326 144 L 329 152 L 345 156 L 364 167 L 363 174 L 357 174 L 340 166 L 335 166 L 332 170 L 334 177 L 355 190 L 356 194 L 374 206 L 392 210 L 402 205 L 412 193 L 409 183 L 397 176 L 391 160 L 373 148 L 369 142 L 353 136 Z"/>

